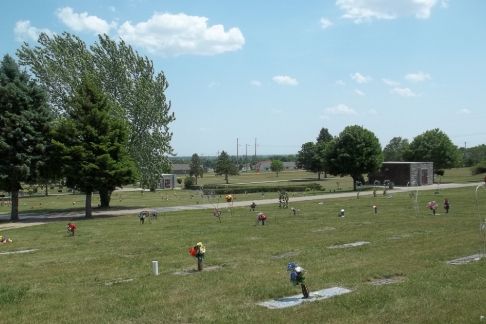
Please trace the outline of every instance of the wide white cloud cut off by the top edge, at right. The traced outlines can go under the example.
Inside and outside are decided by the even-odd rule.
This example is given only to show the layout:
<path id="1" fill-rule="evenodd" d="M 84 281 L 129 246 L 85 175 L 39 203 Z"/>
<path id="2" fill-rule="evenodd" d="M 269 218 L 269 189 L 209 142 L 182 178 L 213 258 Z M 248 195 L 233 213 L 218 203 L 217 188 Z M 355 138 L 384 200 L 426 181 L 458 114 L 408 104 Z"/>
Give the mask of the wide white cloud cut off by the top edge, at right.
<path id="1" fill-rule="evenodd" d="M 343 18 L 361 23 L 405 16 L 425 19 L 430 17 L 430 11 L 436 2 L 437 0 L 337 0 L 336 5 L 346 11 Z"/>

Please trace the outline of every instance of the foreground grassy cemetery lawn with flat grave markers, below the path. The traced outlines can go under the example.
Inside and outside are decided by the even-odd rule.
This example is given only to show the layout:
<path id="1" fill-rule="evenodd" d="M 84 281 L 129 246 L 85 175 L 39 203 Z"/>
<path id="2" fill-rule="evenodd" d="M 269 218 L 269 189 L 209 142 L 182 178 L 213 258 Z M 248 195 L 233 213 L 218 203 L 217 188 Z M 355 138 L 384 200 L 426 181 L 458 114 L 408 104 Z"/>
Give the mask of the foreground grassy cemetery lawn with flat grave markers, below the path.
<path id="1" fill-rule="evenodd" d="M 136 215 L 76 219 L 76 237 L 68 237 L 67 221 L 2 230 L 14 242 L 0 245 L 0 253 L 37 251 L 0 255 L 0 323 L 480 323 L 485 260 L 446 264 L 484 248 L 474 189 L 421 191 L 419 216 L 403 193 L 323 205 L 291 198 L 296 216 L 277 202 L 260 205 L 265 226 L 254 226 L 256 212 L 235 207 L 222 223 L 201 210 L 163 213 L 143 225 Z M 484 219 L 486 192 L 479 197 Z M 452 205 L 447 215 L 445 198 Z M 426 208 L 431 200 L 439 204 L 437 216 Z M 341 208 L 345 218 L 337 217 Z M 221 268 L 173 274 L 196 267 L 188 250 L 199 241 L 207 247 L 204 266 Z M 370 243 L 327 248 L 356 241 Z M 272 258 L 292 252 L 299 255 Z M 300 293 L 286 272 L 290 261 L 308 271 L 310 291 L 353 291 L 281 310 L 257 305 Z M 390 277 L 403 281 L 368 284 Z"/>

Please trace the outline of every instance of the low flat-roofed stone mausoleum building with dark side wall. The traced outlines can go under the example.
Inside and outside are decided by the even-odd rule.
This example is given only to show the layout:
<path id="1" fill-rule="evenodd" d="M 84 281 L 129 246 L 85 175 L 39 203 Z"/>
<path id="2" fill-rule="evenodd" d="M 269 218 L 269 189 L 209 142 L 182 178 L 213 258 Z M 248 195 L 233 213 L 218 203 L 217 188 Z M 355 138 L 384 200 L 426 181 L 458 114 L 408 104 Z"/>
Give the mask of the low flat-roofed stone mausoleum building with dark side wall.
<path id="1" fill-rule="evenodd" d="M 406 186 L 409 182 L 414 181 L 418 186 L 432 185 L 434 184 L 434 163 L 383 162 L 380 171 L 368 174 L 368 184 L 373 185 L 376 180 L 381 184 L 384 180 L 390 180 L 390 188 Z"/>

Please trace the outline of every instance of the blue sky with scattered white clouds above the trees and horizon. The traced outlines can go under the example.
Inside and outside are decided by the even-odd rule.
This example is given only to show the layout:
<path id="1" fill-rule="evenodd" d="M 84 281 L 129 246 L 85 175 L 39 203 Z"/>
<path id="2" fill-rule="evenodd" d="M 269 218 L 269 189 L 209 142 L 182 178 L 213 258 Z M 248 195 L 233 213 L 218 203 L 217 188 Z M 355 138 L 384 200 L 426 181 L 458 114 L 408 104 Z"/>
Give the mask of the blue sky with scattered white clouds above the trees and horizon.
<path id="1" fill-rule="evenodd" d="M 5 3 L 7 2 L 7 3 Z M 40 32 L 121 37 L 168 79 L 179 156 L 295 154 L 347 125 L 486 143 L 486 1 L 16 0 L 0 53 Z"/>

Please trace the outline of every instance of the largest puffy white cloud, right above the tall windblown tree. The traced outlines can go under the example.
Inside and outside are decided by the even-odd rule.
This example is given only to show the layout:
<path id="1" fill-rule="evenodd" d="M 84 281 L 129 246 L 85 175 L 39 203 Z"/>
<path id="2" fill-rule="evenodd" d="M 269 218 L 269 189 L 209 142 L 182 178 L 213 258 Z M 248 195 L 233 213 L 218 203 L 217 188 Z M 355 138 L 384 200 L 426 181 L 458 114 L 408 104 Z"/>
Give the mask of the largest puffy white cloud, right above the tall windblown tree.
<path id="1" fill-rule="evenodd" d="M 216 55 L 243 47 L 244 37 L 240 29 L 234 27 L 225 32 L 223 25 L 209 27 L 207 22 L 206 17 L 183 13 L 154 14 L 147 21 L 135 25 L 124 22 L 118 34 L 132 45 L 163 56 Z"/>

